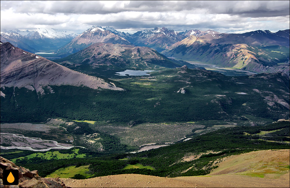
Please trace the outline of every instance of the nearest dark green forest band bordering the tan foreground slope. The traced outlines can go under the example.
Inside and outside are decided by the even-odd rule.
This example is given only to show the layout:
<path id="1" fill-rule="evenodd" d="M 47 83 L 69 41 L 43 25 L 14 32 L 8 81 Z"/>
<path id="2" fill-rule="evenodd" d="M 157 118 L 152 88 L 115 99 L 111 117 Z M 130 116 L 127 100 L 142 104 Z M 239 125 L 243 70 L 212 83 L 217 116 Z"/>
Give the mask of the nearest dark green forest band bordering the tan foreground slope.
<path id="1" fill-rule="evenodd" d="M 260 126 L 229 127 L 197 136 L 186 142 L 180 142 L 167 147 L 161 147 L 141 153 L 133 154 L 117 152 L 106 154 L 92 152 L 89 149 L 80 149 L 78 153 L 86 154 L 86 158 L 44 160 L 35 157 L 32 159 L 24 158 L 22 160 L 16 160 L 16 164 L 31 170 L 38 169 L 40 176 L 47 176 L 59 168 L 68 166 L 79 167 L 83 165 L 90 165 L 90 177 L 130 173 L 163 177 L 205 175 L 208 174 L 211 169 L 218 166 L 218 164 L 213 164 L 212 162 L 218 158 L 255 150 L 289 149 L 289 128 L 288 121 Z M 270 131 L 271 133 L 258 135 L 261 131 Z M 245 132 L 248 134 L 245 134 Z M 285 140 L 288 140 L 288 143 L 261 140 L 261 138 L 263 138 L 267 140 L 280 141 L 281 137 L 285 137 Z M 6 151 L 8 152 L 8 150 L 1 151 L 1 153 L 4 153 L 1 155 L 5 158 L 12 159 L 19 156 L 19 153 L 5 154 Z M 203 154 L 196 160 L 181 162 L 186 154 L 200 154 L 207 151 L 215 153 Z M 72 149 L 60 152 L 69 153 L 72 152 Z M 20 154 L 25 156 L 31 153 L 31 151 L 24 151 Z M 119 160 L 123 158 L 127 158 L 128 160 Z M 128 164 L 151 166 L 154 170 L 123 169 Z M 39 168 L 39 166 L 42 168 Z M 192 166 L 194 168 L 191 170 L 186 173 L 181 173 Z M 77 177 L 82 178 L 83 176 L 76 176 L 76 178 Z"/>

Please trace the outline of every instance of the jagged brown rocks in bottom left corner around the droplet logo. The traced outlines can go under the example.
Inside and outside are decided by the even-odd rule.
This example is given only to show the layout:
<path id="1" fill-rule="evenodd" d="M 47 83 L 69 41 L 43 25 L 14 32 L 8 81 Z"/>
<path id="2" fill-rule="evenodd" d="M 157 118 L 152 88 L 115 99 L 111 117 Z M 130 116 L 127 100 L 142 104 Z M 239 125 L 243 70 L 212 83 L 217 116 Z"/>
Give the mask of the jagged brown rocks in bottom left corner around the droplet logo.
<path id="1" fill-rule="evenodd" d="M 29 171 L 29 169 L 18 167 L 10 160 L 0 157 L 0 178 L 1 187 L 67 187 L 64 182 L 58 178 L 42 178 L 38 175 L 37 170 Z M 18 170 L 18 185 L 3 185 L 3 170 L 14 169 Z"/>

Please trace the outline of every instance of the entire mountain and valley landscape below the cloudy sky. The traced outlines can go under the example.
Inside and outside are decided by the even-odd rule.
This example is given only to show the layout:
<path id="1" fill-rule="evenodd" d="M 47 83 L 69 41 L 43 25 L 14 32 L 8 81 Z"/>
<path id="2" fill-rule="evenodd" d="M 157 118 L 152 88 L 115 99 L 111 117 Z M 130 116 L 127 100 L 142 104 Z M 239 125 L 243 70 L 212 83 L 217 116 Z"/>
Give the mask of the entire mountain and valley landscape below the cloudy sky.
<path id="1" fill-rule="evenodd" d="M 289 187 L 289 47 L 289 29 L 1 32 L 1 178 Z"/>

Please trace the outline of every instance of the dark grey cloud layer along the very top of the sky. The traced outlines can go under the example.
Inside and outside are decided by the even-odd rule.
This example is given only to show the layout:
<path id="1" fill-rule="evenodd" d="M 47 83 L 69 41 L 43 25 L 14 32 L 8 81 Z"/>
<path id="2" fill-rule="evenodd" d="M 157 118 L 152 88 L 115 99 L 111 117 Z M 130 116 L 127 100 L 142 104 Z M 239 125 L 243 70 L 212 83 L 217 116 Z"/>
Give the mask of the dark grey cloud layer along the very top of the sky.
<path id="1" fill-rule="evenodd" d="M 231 14 L 243 17 L 289 15 L 290 1 L 1 1 L 1 10 L 21 13 L 108 14 L 126 11 Z"/>

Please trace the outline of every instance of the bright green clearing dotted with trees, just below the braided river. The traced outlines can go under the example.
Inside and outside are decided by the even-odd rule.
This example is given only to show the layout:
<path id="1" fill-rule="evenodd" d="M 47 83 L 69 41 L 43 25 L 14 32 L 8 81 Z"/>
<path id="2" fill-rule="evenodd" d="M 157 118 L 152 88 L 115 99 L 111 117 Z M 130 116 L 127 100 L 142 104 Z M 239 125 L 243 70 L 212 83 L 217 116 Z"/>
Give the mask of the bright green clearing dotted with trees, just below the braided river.
<path id="1" fill-rule="evenodd" d="M 79 152 L 79 149 L 73 149 L 73 153 L 72 154 L 62 154 L 62 153 L 59 153 L 59 151 L 53 151 L 53 152 L 45 152 L 45 153 L 33 153 L 33 154 L 30 154 L 30 155 L 27 155 L 25 157 L 19 157 L 19 158 L 14 158 L 12 159 L 11 161 L 13 163 L 16 162 L 17 159 L 24 159 L 24 158 L 28 158 L 28 159 L 31 159 L 33 157 L 40 157 L 40 158 L 43 158 L 43 159 L 46 159 L 46 160 L 50 160 L 50 159 L 70 159 L 70 158 L 84 158 L 86 156 L 86 154 L 78 154 Z"/>

